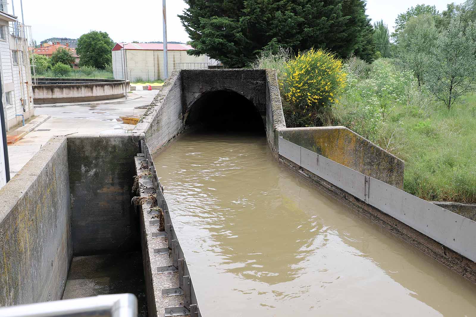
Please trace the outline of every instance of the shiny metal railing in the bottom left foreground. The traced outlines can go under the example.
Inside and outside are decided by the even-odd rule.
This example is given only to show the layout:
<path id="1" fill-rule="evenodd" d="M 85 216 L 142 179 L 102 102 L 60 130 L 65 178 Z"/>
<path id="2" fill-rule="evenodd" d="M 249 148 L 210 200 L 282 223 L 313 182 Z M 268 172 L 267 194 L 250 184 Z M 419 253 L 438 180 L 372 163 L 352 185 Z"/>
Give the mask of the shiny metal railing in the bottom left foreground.
<path id="1" fill-rule="evenodd" d="M 133 294 L 99 295 L 0 308 L 5 317 L 137 317 Z"/>

